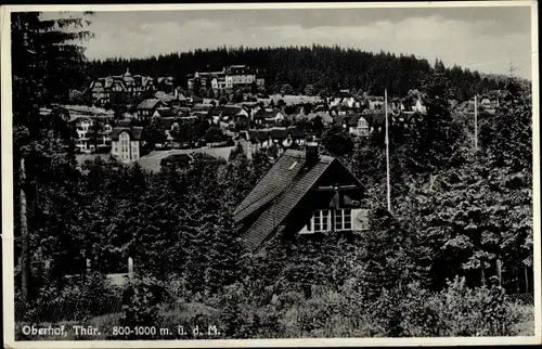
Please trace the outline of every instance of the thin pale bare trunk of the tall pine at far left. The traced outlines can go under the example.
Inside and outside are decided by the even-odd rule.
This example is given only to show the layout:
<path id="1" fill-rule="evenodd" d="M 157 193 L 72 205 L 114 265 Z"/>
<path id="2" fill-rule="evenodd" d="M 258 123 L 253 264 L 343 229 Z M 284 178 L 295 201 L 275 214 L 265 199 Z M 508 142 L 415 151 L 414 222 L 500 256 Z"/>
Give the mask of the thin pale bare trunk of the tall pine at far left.
<path id="1" fill-rule="evenodd" d="M 28 258 L 28 224 L 26 214 L 26 174 L 25 159 L 21 158 L 21 290 L 23 300 L 28 300 L 28 289 L 30 281 L 30 259 Z"/>

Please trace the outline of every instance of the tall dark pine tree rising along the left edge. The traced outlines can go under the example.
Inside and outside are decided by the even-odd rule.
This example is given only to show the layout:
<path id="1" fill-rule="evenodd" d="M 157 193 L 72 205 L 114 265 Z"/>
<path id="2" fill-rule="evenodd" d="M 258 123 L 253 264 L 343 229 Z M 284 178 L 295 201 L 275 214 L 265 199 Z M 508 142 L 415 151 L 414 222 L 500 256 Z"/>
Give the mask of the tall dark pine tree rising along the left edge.
<path id="1" fill-rule="evenodd" d="M 15 193 L 23 190 L 26 206 L 34 208 L 41 196 L 37 188 L 61 179 L 69 182 L 67 179 L 74 176 L 74 152 L 69 151 L 73 144 L 57 127 L 62 125 L 61 116 L 43 115 L 40 109 L 69 99 L 69 88 L 80 76 L 83 61 L 82 48 L 73 41 L 88 39 L 90 33 L 81 29 L 87 24 L 82 18 L 43 20 L 38 12 L 15 12 L 11 20 L 14 178 L 23 178 L 18 174 L 25 171 L 24 181 L 14 184 Z M 28 210 L 28 216 L 35 215 L 35 209 Z M 36 233 L 34 224 L 33 220 L 25 224 L 31 234 Z M 27 246 L 29 233 L 18 229 L 16 225 L 16 233 L 22 234 L 23 245 Z M 24 248 L 21 256 L 25 298 L 30 279 L 29 248 Z"/>

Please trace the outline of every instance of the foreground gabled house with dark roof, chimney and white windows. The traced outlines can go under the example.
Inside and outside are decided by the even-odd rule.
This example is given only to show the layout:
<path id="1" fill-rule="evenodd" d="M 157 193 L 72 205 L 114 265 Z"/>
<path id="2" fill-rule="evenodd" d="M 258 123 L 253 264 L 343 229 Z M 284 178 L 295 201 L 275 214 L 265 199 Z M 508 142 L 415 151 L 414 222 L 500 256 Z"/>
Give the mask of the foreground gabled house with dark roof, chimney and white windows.
<path id="1" fill-rule="evenodd" d="M 367 192 L 318 144 L 287 150 L 234 210 L 245 247 L 257 253 L 275 234 L 314 236 L 369 230 Z"/>

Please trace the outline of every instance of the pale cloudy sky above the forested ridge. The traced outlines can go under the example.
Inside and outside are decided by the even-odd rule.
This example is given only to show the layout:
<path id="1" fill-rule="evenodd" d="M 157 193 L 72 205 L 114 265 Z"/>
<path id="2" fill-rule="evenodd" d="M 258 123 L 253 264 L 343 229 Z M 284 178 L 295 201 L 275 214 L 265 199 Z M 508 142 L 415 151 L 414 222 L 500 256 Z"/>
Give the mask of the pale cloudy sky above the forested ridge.
<path id="1" fill-rule="evenodd" d="M 48 14 L 51 15 L 51 14 Z M 95 12 L 89 59 L 194 49 L 339 44 L 531 77 L 530 8 Z"/>

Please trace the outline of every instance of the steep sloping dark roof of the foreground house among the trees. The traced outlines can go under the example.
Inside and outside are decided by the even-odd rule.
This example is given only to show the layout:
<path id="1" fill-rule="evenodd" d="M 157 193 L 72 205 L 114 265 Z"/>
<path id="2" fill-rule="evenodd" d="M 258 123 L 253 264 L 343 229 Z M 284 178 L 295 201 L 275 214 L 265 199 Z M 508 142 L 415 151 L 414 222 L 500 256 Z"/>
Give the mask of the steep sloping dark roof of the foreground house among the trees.
<path id="1" fill-rule="evenodd" d="M 283 153 L 234 210 L 238 223 L 267 207 L 243 236 L 248 249 L 257 249 L 268 238 L 334 160 L 320 156 L 318 164 L 307 168 L 305 152 Z"/>

